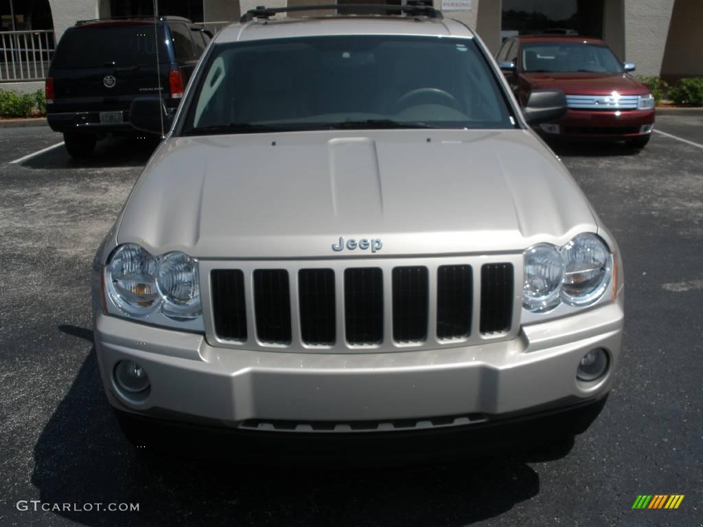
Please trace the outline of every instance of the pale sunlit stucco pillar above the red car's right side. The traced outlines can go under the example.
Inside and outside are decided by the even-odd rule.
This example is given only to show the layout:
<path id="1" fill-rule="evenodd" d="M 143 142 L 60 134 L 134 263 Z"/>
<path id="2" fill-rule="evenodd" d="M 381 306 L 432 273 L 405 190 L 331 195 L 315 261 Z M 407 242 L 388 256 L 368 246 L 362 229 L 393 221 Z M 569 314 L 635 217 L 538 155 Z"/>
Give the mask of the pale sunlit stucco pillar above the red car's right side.
<path id="1" fill-rule="evenodd" d="M 662 71 L 673 1 L 625 0 L 624 60 L 636 63 L 639 75 Z"/>

